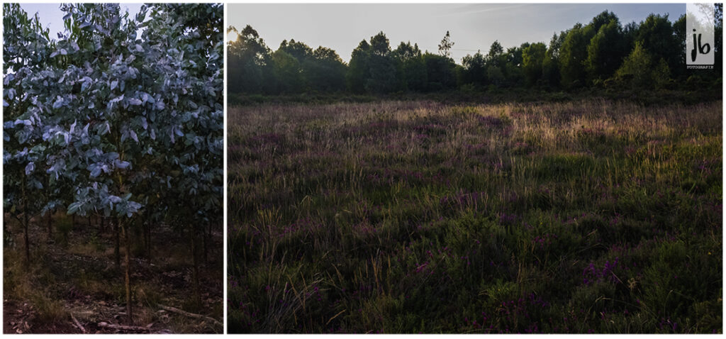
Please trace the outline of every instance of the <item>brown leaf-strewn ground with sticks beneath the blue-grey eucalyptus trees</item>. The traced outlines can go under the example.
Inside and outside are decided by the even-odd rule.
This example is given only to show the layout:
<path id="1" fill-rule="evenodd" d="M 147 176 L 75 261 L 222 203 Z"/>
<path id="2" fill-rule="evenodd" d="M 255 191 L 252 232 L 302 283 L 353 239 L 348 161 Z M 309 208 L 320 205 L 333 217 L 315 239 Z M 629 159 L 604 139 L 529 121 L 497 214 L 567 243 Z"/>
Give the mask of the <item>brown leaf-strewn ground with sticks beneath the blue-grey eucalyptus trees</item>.
<path id="1" fill-rule="evenodd" d="M 8 218 L 5 219 L 6 221 Z M 223 266 L 221 229 L 212 232 L 207 259 L 200 250 L 201 305 L 194 293 L 192 257 L 188 237 L 166 225 L 152 228 L 152 250 L 145 253 L 141 237 L 131 233 L 131 285 L 133 322 L 126 316 L 121 266 L 115 265 L 114 232 L 94 221 L 77 218 L 67 235 L 32 222 L 30 258 L 23 264 L 23 232 L 20 224 L 6 225 L 11 241 L 4 250 L 4 333 L 203 333 L 223 328 L 205 319 L 166 311 L 171 306 L 222 322 Z M 134 240 L 136 239 L 136 240 Z M 199 240 L 200 247 L 202 241 Z M 74 321 L 75 318 L 78 322 Z M 131 325 L 131 329 L 99 324 Z M 80 325 L 80 326 L 78 326 Z M 83 327 L 83 330 L 81 330 Z"/>

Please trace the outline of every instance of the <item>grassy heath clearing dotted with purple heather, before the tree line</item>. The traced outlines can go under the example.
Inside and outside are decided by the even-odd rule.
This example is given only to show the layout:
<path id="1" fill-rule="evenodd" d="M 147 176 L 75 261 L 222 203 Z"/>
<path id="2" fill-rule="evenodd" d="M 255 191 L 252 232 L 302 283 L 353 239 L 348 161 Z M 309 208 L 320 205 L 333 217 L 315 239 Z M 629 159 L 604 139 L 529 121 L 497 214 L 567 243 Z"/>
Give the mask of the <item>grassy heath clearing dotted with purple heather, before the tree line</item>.
<path id="1" fill-rule="evenodd" d="M 722 102 L 229 112 L 230 332 L 721 332 Z"/>

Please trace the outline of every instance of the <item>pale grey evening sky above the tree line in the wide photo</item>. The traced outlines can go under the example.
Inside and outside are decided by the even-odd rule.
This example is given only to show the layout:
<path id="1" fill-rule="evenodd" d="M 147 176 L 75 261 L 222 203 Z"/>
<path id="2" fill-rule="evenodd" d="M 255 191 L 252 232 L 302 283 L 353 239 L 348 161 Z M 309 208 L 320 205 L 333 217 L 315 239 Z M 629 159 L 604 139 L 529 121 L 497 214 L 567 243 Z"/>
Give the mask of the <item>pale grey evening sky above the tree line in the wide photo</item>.
<path id="1" fill-rule="evenodd" d="M 227 25 L 238 30 L 251 25 L 273 51 L 282 40 L 295 39 L 313 49 L 332 48 L 346 62 L 361 40 L 381 30 L 391 49 L 411 41 L 432 53 L 449 30 L 452 57 L 460 64 L 478 49 L 486 54 L 494 40 L 505 49 L 549 44 L 553 33 L 589 23 L 605 9 L 625 25 L 650 13 L 669 14 L 673 22 L 685 13 L 685 4 L 229 4 Z"/>

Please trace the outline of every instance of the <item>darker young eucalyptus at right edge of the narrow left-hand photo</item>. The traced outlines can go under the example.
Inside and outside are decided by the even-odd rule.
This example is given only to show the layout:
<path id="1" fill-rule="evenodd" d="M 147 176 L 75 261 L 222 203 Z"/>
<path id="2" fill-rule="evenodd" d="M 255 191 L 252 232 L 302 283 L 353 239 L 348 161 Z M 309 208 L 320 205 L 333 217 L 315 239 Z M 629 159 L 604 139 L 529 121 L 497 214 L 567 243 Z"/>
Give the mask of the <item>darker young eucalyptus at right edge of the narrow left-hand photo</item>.
<path id="1" fill-rule="evenodd" d="M 189 234 L 195 303 L 200 303 L 197 232 L 221 224 L 223 142 L 223 7 L 160 4 L 152 8 L 144 39 L 171 43 L 183 59 L 174 65 L 181 87 L 174 92 L 174 134 L 166 147 L 167 220 Z M 174 24 L 176 23 L 176 25 Z M 160 42 L 162 44 L 163 42 Z M 200 227 L 201 226 L 201 227 Z"/>

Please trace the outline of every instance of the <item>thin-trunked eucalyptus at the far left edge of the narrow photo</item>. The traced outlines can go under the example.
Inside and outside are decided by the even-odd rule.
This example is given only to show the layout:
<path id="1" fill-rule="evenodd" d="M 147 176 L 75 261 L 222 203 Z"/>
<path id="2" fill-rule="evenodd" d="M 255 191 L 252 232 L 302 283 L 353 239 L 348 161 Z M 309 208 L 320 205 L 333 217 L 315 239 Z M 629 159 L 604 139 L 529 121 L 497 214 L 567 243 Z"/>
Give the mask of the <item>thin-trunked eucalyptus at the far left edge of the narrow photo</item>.
<path id="1" fill-rule="evenodd" d="M 23 225 L 25 266 L 28 267 L 30 219 L 48 211 L 46 203 L 50 204 L 50 200 L 41 198 L 48 191 L 44 173 L 47 153 L 41 144 L 46 122 L 41 117 L 41 107 L 36 105 L 37 99 L 26 94 L 23 82 L 52 63 L 47 60 L 54 44 L 37 15 L 28 17 L 19 4 L 3 4 L 3 12 L 3 206 L 5 213 Z"/>

